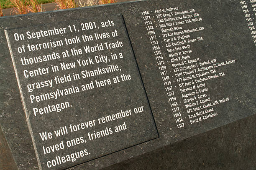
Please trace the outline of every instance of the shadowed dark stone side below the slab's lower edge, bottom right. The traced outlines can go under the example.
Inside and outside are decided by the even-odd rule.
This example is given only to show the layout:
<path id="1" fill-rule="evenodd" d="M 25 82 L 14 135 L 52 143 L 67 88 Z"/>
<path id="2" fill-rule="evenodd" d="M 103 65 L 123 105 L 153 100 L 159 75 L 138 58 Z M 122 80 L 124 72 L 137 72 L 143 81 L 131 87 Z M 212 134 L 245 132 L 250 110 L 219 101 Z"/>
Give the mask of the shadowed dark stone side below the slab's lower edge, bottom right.
<path id="1" fill-rule="evenodd" d="M 255 170 L 255 121 L 246 117 L 102 170 Z"/>

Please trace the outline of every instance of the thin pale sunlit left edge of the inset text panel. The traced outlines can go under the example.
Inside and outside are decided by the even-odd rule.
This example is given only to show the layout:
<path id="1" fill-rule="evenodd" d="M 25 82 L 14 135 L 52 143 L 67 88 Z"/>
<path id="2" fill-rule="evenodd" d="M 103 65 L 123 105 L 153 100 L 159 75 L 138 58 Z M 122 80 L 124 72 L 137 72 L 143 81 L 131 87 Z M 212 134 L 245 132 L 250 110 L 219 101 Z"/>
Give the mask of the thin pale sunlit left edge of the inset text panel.
<path id="1" fill-rule="evenodd" d="M 17 70 L 16 64 L 15 64 L 15 61 L 14 61 L 13 50 L 12 50 L 12 47 L 11 47 L 11 44 L 10 44 L 10 39 L 9 39 L 9 35 L 8 35 L 7 30 L 5 30 L 5 37 L 6 37 L 7 44 L 8 44 L 9 50 L 10 50 L 10 56 L 11 56 L 11 59 L 12 59 L 12 62 L 13 62 L 13 67 L 14 67 L 16 79 L 17 79 L 17 82 L 18 82 L 18 87 L 19 87 L 19 90 L 20 90 L 20 98 L 21 98 L 21 101 L 22 101 L 23 110 L 25 111 L 26 121 L 27 121 L 27 124 L 28 124 L 28 130 L 29 130 L 30 135 L 32 137 L 32 143 L 33 143 L 34 150 L 35 150 L 35 153 L 36 153 L 36 159 L 37 159 L 37 162 L 38 162 L 38 167 L 39 167 L 40 170 L 43 170 L 42 166 L 41 166 L 40 159 L 39 159 L 38 151 L 37 151 L 37 148 L 36 148 L 36 142 L 35 142 L 35 139 L 34 139 L 32 128 L 31 128 L 31 123 L 30 123 L 30 120 L 29 120 L 27 107 L 26 107 L 26 103 L 25 103 L 25 100 L 24 100 L 24 95 L 23 95 L 23 92 L 21 90 L 21 85 L 20 85 L 19 76 L 18 76 L 18 70 Z"/>

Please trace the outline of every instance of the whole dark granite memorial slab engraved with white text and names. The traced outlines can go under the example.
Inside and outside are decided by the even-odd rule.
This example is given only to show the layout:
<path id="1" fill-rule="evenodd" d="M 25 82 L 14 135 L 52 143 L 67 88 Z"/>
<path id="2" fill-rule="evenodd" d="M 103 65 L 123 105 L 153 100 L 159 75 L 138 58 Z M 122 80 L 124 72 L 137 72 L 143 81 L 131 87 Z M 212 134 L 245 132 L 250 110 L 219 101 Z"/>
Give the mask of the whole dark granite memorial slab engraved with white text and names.
<path id="1" fill-rule="evenodd" d="M 255 5 L 0 18 L 0 125 L 17 169 L 100 169 L 254 115 Z"/>

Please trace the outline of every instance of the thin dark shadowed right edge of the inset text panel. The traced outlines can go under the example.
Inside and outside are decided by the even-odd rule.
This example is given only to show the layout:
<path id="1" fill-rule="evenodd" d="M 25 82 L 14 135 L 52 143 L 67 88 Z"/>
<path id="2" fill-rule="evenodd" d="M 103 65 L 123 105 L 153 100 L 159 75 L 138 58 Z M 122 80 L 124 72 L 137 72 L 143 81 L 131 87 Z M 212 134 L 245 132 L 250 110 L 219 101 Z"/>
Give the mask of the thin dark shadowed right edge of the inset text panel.
<path id="1" fill-rule="evenodd" d="M 140 69 L 139 69 L 139 67 L 138 67 L 138 62 L 137 62 L 137 59 L 136 59 L 136 56 L 135 56 L 135 53 L 134 53 L 134 50 L 133 50 L 133 45 L 132 45 L 132 43 L 131 43 L 131 38 L 130 38 L 130 36 L 129 36 L 128 30 L 127 30 L 127 27 L 126 27 L 125 20 L 124 20 L 123 15 L 122 15 L 121 13 L 120 13 L 119 15 L 121 16 L 121 18 L 122 18 L 122 20 L 123 20 L 123 25 L 124 25 L 124 27 L 125 27 L 125 31 L 126 31 L 126 34 L 127 34 L 127 37 L 128 37 L 128 41 L 130 42 L 132 54 L 133 54 L 134 60 L 135 60 L 135 62 L 136 62 L 136 66 L 137 66 L 137 69 L 138 69 L 138 73 L 139 73 L 139 75 L 140 75 L 140 77 L 141 77 L 141 72 L 140 72 Z M 155 124 L 155 127 L 156 127 L 156 133 L 157 133 L 157 135 L 158 135 L 157 138 L 159 138 L 160 135 L 159 135 L 159 132 L 158 132 L 158 129 L 157 129 L 157 126 L 156 126 L 156 121 L 155 121 L 155 118 L 154 118 L 154 115 L 153 115 L 153 112 L 152 112 L 152 109 L 151 109 L 150 102 L 149 102 L 149 100 L 148 100 L 148 94 L 147 94 L 147 92 L 146 92 L 146 88 L 145 88 L 145 85 L 144 85 L 144 82 L 143 82 L 142 77 L 141 77 L 141 82 L 142 82 L 142 86 L 143 86 L 144 92 L 145 92 L 145 94 L 146 94 L 146 98 L 147 98 L 147 101 L 148 101 L 148 105 L 149 105 L 149 108 L 150 108 L 150 111 L 151 111 L 151 115 L 152 115 L 154 124 Z"/>

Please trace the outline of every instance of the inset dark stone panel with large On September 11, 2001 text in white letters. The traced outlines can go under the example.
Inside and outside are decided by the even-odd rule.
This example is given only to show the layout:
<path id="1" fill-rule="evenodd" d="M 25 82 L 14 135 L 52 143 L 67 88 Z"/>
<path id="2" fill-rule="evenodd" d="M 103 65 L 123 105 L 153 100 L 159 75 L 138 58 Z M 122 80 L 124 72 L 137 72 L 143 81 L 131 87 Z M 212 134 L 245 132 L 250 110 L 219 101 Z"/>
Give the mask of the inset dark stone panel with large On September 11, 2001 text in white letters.
<path id="1" fill-rule="evenodd" d="M 41 170 L 158 138 L 122 15 L 5 35 Z"/>

